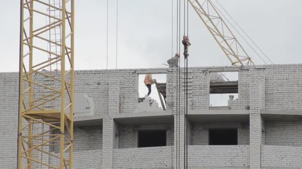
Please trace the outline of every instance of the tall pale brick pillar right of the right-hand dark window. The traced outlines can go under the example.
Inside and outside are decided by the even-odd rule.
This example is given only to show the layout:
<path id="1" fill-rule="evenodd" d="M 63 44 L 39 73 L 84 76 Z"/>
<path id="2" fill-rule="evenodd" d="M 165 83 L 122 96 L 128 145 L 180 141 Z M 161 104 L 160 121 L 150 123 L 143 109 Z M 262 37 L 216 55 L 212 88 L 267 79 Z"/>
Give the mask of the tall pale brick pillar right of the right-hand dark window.
<path id="1" fill-rule="evenodd" d="M 262 139 L 262 85 L 261 83 L 251 83 L 249 87 L 250 104 L 250 169 L 261 168 L 261 139 Z"/>

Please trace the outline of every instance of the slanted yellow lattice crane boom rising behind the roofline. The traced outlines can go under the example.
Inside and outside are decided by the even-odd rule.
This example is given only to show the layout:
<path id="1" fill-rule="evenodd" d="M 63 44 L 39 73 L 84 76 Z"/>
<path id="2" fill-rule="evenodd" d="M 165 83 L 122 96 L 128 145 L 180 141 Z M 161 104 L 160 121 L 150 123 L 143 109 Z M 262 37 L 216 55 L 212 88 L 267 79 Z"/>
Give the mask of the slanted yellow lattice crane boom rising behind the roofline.
<path id="1" fill-rule="evenodd" d="M 232 65 L 254 65 L 211 0 L 188 0 Z M 202 2 L 202 3 L 201 3 Z"/>

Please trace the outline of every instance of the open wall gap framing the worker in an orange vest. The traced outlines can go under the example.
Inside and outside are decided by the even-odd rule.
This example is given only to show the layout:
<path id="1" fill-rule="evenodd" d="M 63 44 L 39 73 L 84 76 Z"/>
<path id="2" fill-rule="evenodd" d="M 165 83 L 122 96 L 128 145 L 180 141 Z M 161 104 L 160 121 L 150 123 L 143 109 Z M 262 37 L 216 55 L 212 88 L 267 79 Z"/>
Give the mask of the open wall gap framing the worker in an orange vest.
<path id="1" fill-rule="evenodd" d="M 166 74 L 149 74 L 149 78 L 154 80 L 150 89 L 145 84 L 146 74 L 139 75 L 139 107 L 141 111 L 166 110 L 165 101 L 165 86 Z M 152 82 L 153 83 L 153 82 Z M 148 93 L 150 92 L 149 96 Z M 149 104 L 149 106 L 148 106 Z"/>

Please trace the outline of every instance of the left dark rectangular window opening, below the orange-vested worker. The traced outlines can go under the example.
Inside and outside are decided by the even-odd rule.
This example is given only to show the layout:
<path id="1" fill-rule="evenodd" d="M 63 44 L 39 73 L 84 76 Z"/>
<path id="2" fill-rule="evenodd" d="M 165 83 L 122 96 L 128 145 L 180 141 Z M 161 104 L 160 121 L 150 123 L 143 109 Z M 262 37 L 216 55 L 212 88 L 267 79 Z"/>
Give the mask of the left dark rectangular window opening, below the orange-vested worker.
<path id="1" fill-rule="evenodd" d="M 166 130 L 140 130 L 139 147 L 166 146 Z"/>

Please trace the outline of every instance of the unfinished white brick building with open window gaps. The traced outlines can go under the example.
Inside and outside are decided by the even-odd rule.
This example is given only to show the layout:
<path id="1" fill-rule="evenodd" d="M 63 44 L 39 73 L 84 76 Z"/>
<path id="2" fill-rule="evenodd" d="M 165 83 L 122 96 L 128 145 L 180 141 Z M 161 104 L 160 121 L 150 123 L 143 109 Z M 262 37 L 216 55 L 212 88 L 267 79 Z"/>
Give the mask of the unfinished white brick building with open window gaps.
<path id="1" fill-rule="evenodd" d="M 163 104 L 138 98 L 140 74 L 166 75 Z M 184 120 L 189 169 L 302 168 L 302 64 L 188 68 L 187 118 L 175 83 L 170 68 L 75 71 L 74 168 L 182 169 Z M 15 169 L 18 73 L 0 73 L 0 93 L 0 164 Z M 238 98 L 210 107 L 212 93 Z"/>

